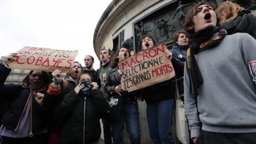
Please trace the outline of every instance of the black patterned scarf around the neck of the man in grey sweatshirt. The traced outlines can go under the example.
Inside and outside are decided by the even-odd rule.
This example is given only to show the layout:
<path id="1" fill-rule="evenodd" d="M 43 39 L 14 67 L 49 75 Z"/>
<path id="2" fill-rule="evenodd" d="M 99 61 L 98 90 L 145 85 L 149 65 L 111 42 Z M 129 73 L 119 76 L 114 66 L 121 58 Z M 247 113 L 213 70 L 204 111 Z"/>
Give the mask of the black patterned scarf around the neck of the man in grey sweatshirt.
<path id="1" fill-rule="evenodd" d="M 210 40 L 213 34 L 219 33 L 214 39 Z M 197 60 L 194 54 L 197 54 L 207 48 L 212 48 L 217 46 L 226 36 L 226 31 L 220 29 L 220 27 L 213 27 L 206 30 L 197 31 L 192 39 L 194 44 L 187 50 L 187 72 L 189 75 L 190 82 L 190 94 L 198 96 L 198 88 L 203 83 L 203 78 L 201 76 L 200 70 L 197 66 Z"/>

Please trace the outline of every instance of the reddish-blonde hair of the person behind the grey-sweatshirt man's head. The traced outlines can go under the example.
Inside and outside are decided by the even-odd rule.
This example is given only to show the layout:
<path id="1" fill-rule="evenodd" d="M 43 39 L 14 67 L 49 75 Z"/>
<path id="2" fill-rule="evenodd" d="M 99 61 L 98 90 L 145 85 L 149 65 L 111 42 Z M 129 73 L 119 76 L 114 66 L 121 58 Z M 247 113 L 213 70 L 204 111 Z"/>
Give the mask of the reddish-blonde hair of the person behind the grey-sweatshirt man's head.
<path id="1" fill-rule="evenodd" d="M 225 1 L 215 10 L 217 17 L 220 18 L 220 24 L 230 22 L 238 16 L 238 12 L 244 10 L 240 5 Z M 223 14 L 224 12 L 224 14 Z"/>

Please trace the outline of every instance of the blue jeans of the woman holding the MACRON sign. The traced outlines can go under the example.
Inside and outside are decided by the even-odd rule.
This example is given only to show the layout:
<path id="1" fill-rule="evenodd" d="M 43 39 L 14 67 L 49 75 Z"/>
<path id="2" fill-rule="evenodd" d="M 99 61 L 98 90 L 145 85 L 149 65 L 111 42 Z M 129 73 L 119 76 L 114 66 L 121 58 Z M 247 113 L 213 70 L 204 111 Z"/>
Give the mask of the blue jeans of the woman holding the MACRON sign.
<path id="1" fill-rule="evenodd" d="M 174 144 L 171 134 L 174 99 L 147 104 L 149 134 L 155 144 Z"/>

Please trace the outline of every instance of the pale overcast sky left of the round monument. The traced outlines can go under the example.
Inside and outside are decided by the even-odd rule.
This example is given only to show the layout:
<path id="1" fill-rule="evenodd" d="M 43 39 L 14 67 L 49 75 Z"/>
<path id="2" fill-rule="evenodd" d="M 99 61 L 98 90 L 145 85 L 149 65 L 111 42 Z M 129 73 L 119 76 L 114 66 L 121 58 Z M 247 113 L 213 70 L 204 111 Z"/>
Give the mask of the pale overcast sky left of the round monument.
<path id="1" fill-rule="evenodd" d="M 99 61 L 93 34 L 101 15 L 112 0 L 0 0 L 0 56 L 24 46 L 78 50 Z"/>

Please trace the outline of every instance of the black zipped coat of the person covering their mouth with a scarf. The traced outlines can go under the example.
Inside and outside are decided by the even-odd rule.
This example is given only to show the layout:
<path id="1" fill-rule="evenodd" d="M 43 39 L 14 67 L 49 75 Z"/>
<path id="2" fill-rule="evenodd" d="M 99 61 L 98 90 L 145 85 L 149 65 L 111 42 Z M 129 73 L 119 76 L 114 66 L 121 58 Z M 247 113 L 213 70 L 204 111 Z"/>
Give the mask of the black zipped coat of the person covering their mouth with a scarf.
<path id="1" fill-rule="evenodd" d="M 100 115 L 105 112 L 106 101 L 100 89 L 89 96 L 71 91 L 56 107 L 55 115 L 66 119 L 60 136 L 61 144 L 85 144 L 101 136 Z"/>

